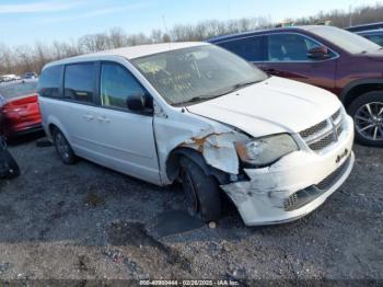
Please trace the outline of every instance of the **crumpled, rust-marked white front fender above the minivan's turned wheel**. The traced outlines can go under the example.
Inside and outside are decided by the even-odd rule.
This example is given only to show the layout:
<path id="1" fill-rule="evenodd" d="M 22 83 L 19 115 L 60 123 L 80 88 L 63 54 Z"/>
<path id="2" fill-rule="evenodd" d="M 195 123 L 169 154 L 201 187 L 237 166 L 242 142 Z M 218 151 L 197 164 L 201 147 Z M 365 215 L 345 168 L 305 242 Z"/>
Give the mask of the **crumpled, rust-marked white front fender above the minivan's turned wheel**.
<path id="1" fill-rule="evenodd" d="M 204 156 L 206 163 L 228 174 L 239 174 L 235 141 L 248 137 L 229 126 L 187 112 L 154 117 L 154 134 L 160 160 L 161 180 L 170 184 L 166 164 L 172 151 L 189 148 Z"/>

